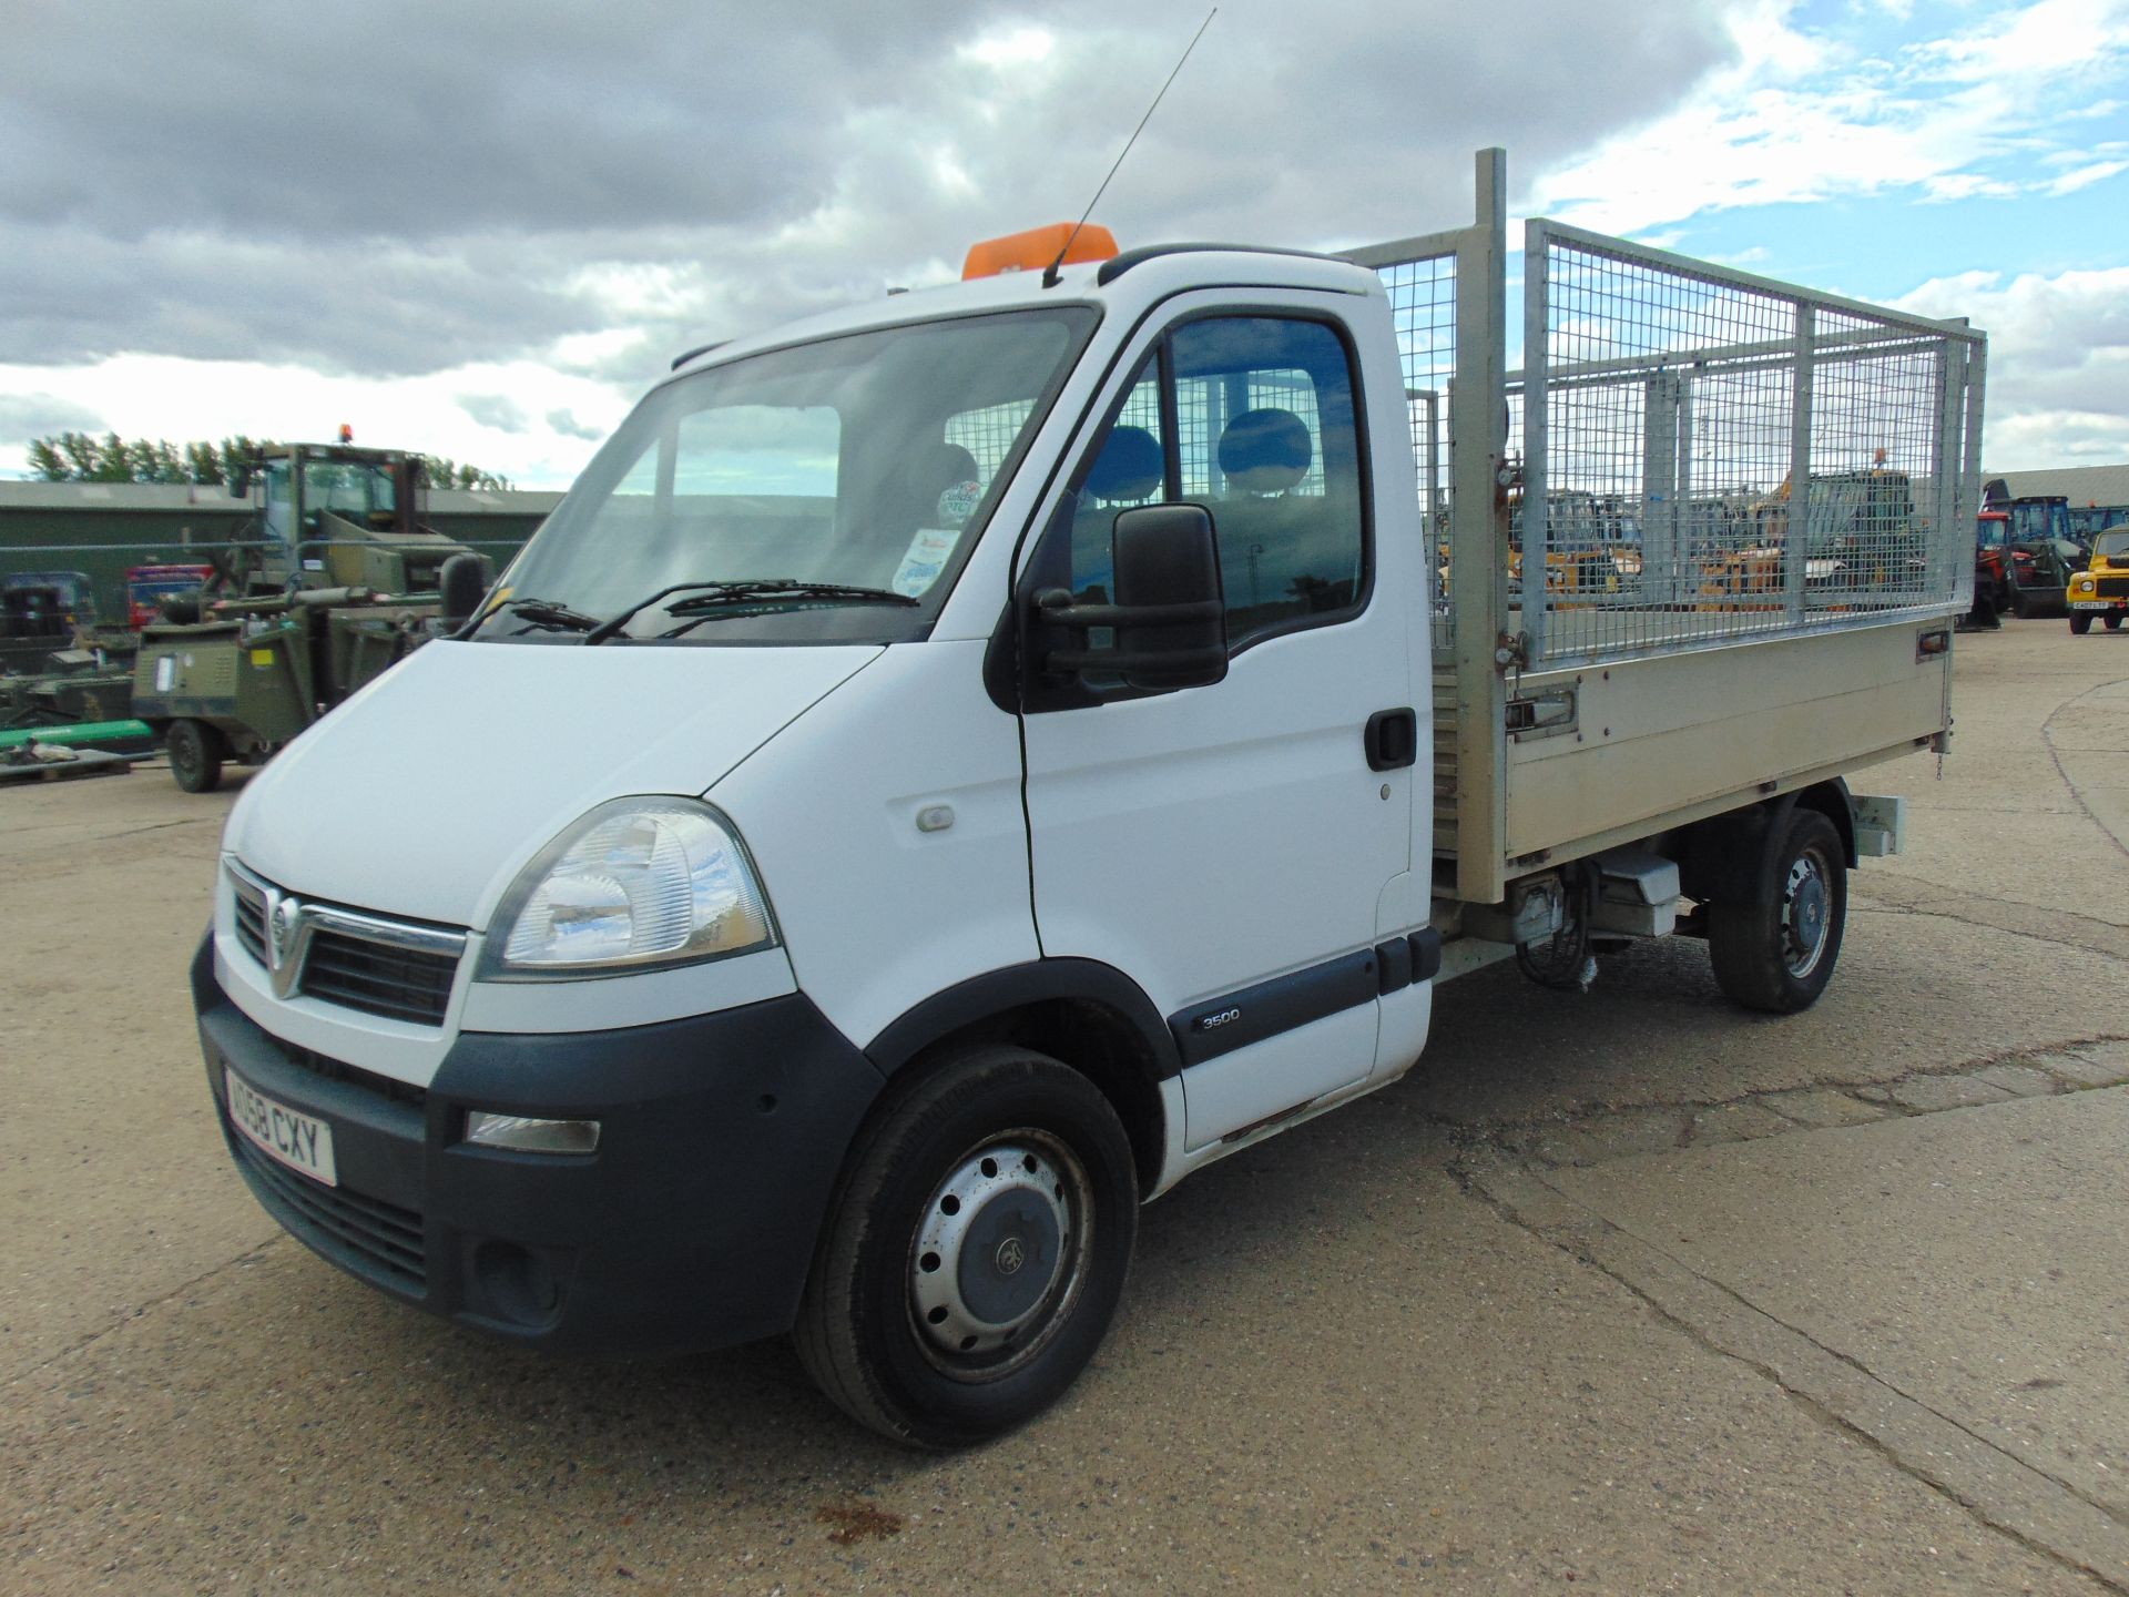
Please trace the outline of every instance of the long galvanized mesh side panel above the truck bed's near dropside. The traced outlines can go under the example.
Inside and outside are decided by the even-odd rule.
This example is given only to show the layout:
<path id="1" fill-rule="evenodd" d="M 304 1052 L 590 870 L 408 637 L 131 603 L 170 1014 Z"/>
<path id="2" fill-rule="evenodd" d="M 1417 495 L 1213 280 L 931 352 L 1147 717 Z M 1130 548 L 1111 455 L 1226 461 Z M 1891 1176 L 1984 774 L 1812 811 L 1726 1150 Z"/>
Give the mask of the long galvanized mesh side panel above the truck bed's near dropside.
<path id="1" fill-rule="evenodd" d="M 1526 228 L 1524 292 L 1546 405 L 1512 603 L 1533 664 L 1961 603 L 1978 334 L 1550 221 Z"/>

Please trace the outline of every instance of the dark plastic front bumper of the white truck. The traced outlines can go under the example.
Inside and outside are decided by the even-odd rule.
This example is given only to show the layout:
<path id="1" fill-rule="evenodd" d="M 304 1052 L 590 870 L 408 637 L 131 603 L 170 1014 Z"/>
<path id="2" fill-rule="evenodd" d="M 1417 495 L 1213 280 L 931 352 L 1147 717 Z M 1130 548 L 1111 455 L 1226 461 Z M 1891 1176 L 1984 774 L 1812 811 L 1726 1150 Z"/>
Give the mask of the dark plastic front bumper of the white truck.
<path id="1" fill-rule="evenodd" d="M 298 1241 L 539 1348 L 658 1354 L 786 1331 L 881 1075 L 805 994 L 605 1033 L 462 1033 L 428 1090 L 290 1048 L 192 962 L 230 1156 Z M 224 1069 L 332 1126 L 339 1186 L 230 1124 Z M 596 1154 L 460 1141 L 468 1109 L 600 1122 Z"/>

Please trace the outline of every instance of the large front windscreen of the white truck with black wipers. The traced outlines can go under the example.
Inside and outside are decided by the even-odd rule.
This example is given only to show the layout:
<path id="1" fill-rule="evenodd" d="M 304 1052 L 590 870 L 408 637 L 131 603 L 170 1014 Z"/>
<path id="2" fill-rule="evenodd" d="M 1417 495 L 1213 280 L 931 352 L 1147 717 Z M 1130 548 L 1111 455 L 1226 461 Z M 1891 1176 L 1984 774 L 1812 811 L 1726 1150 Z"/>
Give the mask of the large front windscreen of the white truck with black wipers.
<path id="1" fill-rule="evenodd" d="M 541 609 L 477 637 L 573 643 L 556 607 L 617 618 L 666 588 L 615 645 L 922 637 L 1092 326 L 924 322 L 654 390 L 511 566 L 502 598 Z"/>

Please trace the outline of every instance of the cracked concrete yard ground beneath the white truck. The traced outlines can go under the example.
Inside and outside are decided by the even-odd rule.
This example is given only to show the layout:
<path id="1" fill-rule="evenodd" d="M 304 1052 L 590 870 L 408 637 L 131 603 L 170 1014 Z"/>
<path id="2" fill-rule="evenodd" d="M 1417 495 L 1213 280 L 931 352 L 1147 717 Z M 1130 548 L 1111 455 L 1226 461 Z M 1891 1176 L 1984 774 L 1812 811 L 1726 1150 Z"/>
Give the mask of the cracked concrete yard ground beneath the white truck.
<path id="1" fill-rule="evenodd" d="M 779 1346 L 477 1341 L 211 1122 L 228 796 L 0 792 L 0 1591 L 2129 1591 L 2129 632 L 1959 641 L 1786 1020 L 1705 950 L 1441 992 L 1405 1082 L 1152 1205 L 1052 1414 L 907 1454 Z"/>

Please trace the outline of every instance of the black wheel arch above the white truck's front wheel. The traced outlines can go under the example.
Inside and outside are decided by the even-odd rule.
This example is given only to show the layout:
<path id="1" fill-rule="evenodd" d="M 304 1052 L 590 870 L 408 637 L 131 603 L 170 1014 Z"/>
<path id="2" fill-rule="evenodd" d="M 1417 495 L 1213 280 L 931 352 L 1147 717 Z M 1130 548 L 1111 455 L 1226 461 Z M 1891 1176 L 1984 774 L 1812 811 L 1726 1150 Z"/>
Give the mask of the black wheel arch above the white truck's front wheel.
<path id="1" fill-rule="evenodd" d="M 1137 982 L 1099 960 L 1009 965 L 924 999 L 864 1054 L 903 1086 L 928 1063 L 979 1043 L 1030 1048 L 1086 1075 L 1130 1137 L 1141 1190 L 1154 1188 L 1167 1150 L 1160 1084 L 1182 1073 L 1182 1054 Z"/>

